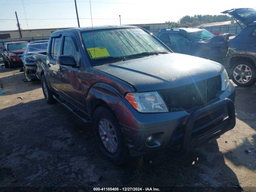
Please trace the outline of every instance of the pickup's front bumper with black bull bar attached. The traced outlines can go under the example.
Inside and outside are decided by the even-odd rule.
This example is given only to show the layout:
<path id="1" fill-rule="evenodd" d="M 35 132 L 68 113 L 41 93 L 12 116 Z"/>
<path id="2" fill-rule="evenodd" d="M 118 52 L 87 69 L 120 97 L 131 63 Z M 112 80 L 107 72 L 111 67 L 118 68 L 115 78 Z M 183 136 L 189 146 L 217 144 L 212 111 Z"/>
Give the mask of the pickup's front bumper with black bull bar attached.
<path id="1" fill-rule="evenodd" d="M 139 155 L 161 148 L 186 152 L 234 128 L 234 99 L 234 87 L 230 84 L 218 96 L 218 101 L 191 113 L 177 111 L 143 114 L 136 112 L 124 99 L 118 104 L 116 114 L 131 154 Z M 146 139 L 151 134 L 154 134 L 155 140 L 148 144 Z"/>

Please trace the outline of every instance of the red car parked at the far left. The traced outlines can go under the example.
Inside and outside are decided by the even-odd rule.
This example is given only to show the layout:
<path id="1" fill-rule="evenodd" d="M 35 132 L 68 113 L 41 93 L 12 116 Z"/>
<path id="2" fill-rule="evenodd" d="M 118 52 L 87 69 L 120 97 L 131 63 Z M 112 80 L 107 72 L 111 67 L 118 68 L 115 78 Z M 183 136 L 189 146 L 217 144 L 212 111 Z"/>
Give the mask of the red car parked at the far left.
<path id="1" fill-rule="evenodd" d="M 4 44 L 2 56 L 4 60 L 4 66 L 6 68 L 14 68 L 22 66 L 21 56 L 26 49 L 28 42 L 26 41 L 14 41 Z"/>

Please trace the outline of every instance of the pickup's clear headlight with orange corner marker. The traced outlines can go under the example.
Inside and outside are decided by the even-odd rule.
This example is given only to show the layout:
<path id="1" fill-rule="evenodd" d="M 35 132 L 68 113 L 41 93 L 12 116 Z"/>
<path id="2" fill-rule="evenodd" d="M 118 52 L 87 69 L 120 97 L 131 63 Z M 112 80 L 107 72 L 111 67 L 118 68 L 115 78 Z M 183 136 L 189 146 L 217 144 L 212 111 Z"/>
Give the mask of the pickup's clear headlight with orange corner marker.
<path id="1" fill-rule="evenodd" d="M 139 112 L 168 112 L 166 104 L 158 92 L 128 93 L 126 100 Z"/>

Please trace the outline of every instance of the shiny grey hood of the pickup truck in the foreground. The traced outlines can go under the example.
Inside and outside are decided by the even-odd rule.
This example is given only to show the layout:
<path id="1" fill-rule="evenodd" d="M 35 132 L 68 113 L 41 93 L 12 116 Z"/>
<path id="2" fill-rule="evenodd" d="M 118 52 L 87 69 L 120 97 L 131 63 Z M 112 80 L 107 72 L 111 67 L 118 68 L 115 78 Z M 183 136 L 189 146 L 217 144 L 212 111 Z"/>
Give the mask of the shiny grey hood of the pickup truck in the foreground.
<path id="1" fill-rule="evenodd" d="M 219 75 L 221 64 L 170 53 L 93 67 L 132 85 L 138 92 L 184 86 Z"/>

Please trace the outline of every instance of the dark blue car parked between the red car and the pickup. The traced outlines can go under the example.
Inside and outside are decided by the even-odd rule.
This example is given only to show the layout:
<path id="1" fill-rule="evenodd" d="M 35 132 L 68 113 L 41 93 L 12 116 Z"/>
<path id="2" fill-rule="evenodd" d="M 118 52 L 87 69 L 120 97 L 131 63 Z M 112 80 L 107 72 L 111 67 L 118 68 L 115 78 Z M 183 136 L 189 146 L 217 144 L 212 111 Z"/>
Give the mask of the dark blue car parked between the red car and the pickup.
<path id="1" fill-rule="evenodd" d="M 37 66 L 34 59 L 34 54 L 46 52 L 47 45 L 48 40 L 30 42 L 28 43 L 26 50 L 22 54 L 21 59 L 23 61 L 24 76 L 28 82 L 37 79 Z"/>

